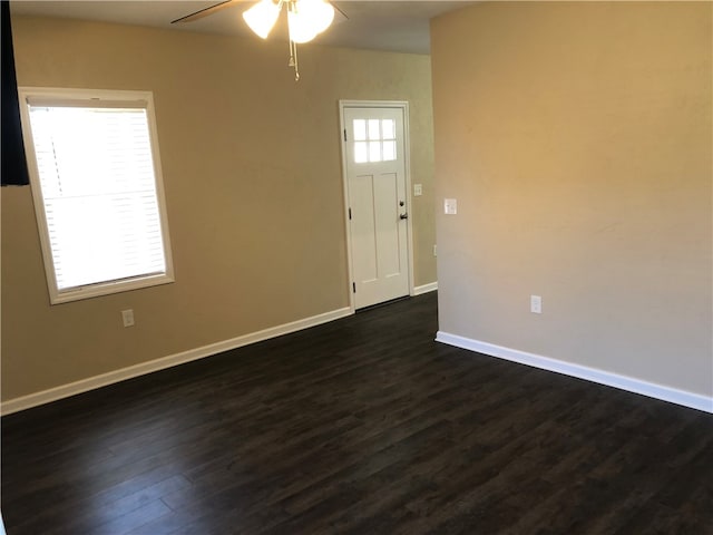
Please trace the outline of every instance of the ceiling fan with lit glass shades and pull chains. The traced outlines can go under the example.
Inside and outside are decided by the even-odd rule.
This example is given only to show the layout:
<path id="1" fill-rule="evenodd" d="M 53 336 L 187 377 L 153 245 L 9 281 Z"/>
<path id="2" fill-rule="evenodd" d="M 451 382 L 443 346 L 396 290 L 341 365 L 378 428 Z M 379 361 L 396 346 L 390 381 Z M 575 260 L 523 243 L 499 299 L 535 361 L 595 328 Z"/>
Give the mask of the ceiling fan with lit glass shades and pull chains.
<path id="1" fill-rule="evenodd" d="M 172 20 L 170 23 L 193 22 L 225 8 L 231 8 L 241 0 L 224 0 L 214 6 L 201 9 L 193 13 Z M 334 20 L 334 12 L 339 12 L 344 19 L 348 17 L 333 2 L 329 0 L 258 0 L 243 11 L 245 23 L 257 36 L 266 39 L 274 28 L 282 8 L 287 12 L 287 35 L 290 40 L 290 67 L 294 67 L 295 81 L 300 79 L 297 64 L 297 43 L 309 42 L 319 33 L 326 30 Z"/>

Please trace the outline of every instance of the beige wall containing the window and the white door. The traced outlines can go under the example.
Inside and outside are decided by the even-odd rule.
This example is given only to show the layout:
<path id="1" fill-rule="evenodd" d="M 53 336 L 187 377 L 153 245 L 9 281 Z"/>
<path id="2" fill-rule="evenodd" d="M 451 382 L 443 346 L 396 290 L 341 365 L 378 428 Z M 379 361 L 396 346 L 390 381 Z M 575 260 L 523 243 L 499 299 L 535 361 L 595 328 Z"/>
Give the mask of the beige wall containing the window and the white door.
<path id="1" fill-rule="evenodd" d="M 3 400 L 349 307 L 339 99 L 410 103 L 436 280 L 429 57 L 304 46 L 295 84 L 284 42 L 12 22 L 19 85 L 154 91 L 176 282 L 50 307 L 30 188 L 4 188 Z"/>

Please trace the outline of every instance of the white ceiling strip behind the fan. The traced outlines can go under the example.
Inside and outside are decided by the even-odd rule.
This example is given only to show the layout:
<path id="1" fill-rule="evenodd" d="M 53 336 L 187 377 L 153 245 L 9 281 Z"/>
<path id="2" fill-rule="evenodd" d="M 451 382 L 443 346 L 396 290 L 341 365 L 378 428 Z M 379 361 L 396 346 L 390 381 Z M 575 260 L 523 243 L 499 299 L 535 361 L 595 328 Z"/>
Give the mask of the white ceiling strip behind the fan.
<path id="1" fill-rule="evenodd" d="M 13 14 L 62 17 L 100 20 L 124 25 L 149 26 L 178 31 L 198 31 L 252 36 L 241 13 L 255 0 L 236 0 L 233 6 L 193 22 L 170 21 L 207 8 L 219 0 L 145 0 L 145 1 L 33 1 L 12 0 Z M 429 20 L 446 11 L 473 1 L 353 1 L 333 2 L 346 19 L 335 22 L 314 42 L 336 47 L 429 54 Z M 276 28 L 271 38 L 286 39 L 286 30 Z M 258 39 L 255 37 L 255 39 Z"/>

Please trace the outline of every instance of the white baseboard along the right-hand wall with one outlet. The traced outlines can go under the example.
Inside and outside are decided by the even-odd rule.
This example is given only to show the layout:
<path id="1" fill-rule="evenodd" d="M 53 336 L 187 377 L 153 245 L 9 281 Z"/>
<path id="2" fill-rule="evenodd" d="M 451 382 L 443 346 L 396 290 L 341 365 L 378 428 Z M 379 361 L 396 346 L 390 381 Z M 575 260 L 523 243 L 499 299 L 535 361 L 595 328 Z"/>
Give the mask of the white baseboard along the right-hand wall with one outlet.
<path id="1" fill-rule="evenodd" d="M 692 409 L 699 409 L 704 412 L 713 412 L 713 397 L 701 396 L 685 390 L 677 390 L 675 388 L 655 385 L 641 379 L 619 376 L 609 371 L 598 370 L 596 368 L 589 368 L 582 364 L 574 364 L 563 360 L 550 359 L 548 357 L 541 357 L 539 354 L 528 353 L 517 349 L 509 349 L 488 342 L 471 340 L 469 338 L 450 334 L 448 332 L 438 331 L 436 341 L 476 351 L 478 353 L 488 354 L 490 357 L 497 357 L 512 362 L 540 368 L 543 370 L 586 379 L 588 381 L 627 390 L 629 392 L 641 393 L 643 396 L 648 396 L 649 398 L 670 401 Z"/>

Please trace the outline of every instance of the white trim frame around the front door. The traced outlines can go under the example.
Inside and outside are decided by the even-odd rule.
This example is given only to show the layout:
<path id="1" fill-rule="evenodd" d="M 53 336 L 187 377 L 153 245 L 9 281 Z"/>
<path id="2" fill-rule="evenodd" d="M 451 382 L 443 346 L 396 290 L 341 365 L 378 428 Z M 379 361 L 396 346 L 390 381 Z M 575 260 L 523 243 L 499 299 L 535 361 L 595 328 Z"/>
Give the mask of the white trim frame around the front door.
<path id="1" fill-rule="evenodd" d="M 344 109 L 345 108 L 391 108 L 401 110 L 403 117 L 403 168 L 407 193 L 407 213 L 409 218 L 406 220 L 406 233 L 407 233 L 407 259 L 408 259 L 408 276 L 409 276 L 409 295 L 413 295 L 413 213 L 411 210 L 412 194 L 411 194 L 411 145 L 410 145 L 410 128 L 409 128 L 409 103 L 406 100 L 340 100 L 339 101 L 339 138 L 340 147 L 342 150 L 342 189 L 343 189 L 343 212 L 344 212 L 344 234 L 346 243 L 346 268 L 349 279 L 346 281 L 349 292 L 349 307 L 351 312 L 356 310 L 354 304 L 354 264 L 352 254 L 352 236 L 350 232 L 350 218 L 349 218 L 349 183 L 346 175 L 346 143 L 344 142 L 344 132 L 346 125 L 344 124 Z"/>

